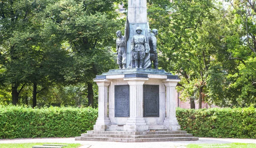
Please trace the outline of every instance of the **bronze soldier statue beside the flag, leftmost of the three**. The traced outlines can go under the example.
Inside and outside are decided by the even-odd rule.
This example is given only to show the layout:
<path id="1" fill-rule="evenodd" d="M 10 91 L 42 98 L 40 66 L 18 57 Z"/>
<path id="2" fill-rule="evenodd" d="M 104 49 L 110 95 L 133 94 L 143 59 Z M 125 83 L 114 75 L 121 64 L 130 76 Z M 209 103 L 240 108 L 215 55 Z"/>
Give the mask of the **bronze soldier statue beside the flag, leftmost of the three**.
<path id="1" fill-rule="evenodd" d="M 126 68 L 126 50 L 125 50 L 125 36 L 122 36 L 121 31 L 116 31 L 116 54 L 117 54 L 117 64 L 119 69 Z"/>

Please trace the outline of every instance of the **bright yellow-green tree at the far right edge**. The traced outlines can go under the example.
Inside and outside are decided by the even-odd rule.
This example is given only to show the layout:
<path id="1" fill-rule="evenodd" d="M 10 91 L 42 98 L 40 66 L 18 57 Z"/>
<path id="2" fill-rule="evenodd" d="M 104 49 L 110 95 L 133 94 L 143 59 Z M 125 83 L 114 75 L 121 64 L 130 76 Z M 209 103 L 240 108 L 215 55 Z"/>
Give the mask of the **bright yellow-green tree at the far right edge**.
<path id="1" fill-rule="evenodd" d="M 230 89 L 235 94 L 229 101 L 236 106 L 250 106 L 256 103 L 256 28 L 255 0 L 229 0 L 227 26 L 232 33 L 225 36 L 229 60 L 236 62 L 236 71 L 229 73 Z"/>

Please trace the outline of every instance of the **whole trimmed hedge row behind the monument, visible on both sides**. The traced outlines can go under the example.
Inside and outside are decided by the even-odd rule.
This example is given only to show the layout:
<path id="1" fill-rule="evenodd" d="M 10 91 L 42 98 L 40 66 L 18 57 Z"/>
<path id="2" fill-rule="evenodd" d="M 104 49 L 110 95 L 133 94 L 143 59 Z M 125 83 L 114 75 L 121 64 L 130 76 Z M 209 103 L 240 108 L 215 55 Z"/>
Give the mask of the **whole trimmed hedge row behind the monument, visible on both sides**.
<path id="1" fill-rule="evenodd" d="M 92 130 L 98 110 L 72 107 L 32 109 L 0 106 L 0 139 L 75 137 Z M 256 109 L 180 109 L 181 130 L 196 137 L 256 138 Z"/>

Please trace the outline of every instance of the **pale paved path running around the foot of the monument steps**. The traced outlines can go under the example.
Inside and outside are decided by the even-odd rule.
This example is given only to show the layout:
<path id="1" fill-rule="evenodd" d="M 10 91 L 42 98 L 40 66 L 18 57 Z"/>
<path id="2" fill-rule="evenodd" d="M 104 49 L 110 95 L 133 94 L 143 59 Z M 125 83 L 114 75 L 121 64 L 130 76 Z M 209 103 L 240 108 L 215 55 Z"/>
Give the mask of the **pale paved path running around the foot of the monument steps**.
<path id="1" fill-rule="evenodd" d="M 230 138 L 199 138 L 198 141 L 179 142 L 99 142 L 75 141 L 75 138 L 22 138 L 0 139 L 0 143 L 80 143 L 80 148 L 186 148 L 188 144 L 213 144 L 213 143 L 256 143 L 256 139 L 230 139 Z"/>

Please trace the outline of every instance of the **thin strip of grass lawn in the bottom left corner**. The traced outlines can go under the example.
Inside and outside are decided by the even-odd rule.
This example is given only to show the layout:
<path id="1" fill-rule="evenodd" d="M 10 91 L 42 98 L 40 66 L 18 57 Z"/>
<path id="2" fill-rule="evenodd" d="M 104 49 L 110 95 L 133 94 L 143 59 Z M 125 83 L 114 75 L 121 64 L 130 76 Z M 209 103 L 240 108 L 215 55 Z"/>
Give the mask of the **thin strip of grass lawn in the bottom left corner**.
<path id="1" fill-rule="evenodd" d="M 0 144 L 0 148 L 32 148 L 32 146 L 43 144 L 67 145 L 63 148 L 78 148 L 81 145 L 79 143 L 4 143 Z"/>

